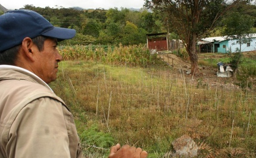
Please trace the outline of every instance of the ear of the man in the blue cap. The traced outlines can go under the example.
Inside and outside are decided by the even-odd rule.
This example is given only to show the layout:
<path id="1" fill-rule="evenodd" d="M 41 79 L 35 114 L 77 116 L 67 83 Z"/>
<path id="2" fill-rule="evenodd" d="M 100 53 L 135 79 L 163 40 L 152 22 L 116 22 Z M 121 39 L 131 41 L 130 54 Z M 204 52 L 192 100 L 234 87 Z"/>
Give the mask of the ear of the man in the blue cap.
<path id="1" fill-rule="evenodd" d="M 31 38 L 25 37 L 22 40 L 22 50 L 24 51 L 24 56 L 30 59 L 32 62 L 35 61 L 35 48 L 37 48 L 37 46 L 33 43 Z"/>

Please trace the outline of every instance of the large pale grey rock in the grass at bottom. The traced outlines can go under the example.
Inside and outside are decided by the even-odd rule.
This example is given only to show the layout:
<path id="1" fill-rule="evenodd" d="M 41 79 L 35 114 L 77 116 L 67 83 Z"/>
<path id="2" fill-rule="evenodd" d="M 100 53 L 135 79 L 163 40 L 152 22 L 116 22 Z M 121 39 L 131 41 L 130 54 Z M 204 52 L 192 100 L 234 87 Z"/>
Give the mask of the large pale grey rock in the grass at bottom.
<path id="1" fill-rule="evenodd" d="M 178 155 L 189 158 L 197 156 L 198 146 L 190 136 L 181 136 L 172 142 L 172 146 Z"/>

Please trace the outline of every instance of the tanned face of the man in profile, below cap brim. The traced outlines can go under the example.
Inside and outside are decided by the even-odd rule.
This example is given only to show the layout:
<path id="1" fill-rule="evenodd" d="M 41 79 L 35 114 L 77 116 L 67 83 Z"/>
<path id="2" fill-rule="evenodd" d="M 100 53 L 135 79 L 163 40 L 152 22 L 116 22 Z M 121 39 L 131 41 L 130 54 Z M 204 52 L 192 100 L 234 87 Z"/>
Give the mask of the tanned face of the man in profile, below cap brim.
<path id="1" fill-rule="evenodd" d="M 44 49 L 41 52 L 39 50 L 36 52 L 36 74 L 47 84 L 56 80 L 58 62 L 62 60 L 56 46 L 56 39 L 47 38 L 44 41 Z"/>

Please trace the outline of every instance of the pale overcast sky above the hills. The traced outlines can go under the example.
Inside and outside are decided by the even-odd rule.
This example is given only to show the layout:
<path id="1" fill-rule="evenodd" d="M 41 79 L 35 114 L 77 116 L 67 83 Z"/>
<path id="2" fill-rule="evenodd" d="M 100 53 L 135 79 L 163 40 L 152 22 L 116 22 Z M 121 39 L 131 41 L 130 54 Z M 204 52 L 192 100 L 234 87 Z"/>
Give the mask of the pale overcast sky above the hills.
<path id="1" fill-rule="evenodd" d="M 1 0 L 0 4 L 6 9 L 20 9 L 25 5 L 33 5 L 35 7 L 56 8 L 62 6 L 64 8 L 79 6 L 84 9 L 96 8 L 142 8 L 144 0 Z"/>

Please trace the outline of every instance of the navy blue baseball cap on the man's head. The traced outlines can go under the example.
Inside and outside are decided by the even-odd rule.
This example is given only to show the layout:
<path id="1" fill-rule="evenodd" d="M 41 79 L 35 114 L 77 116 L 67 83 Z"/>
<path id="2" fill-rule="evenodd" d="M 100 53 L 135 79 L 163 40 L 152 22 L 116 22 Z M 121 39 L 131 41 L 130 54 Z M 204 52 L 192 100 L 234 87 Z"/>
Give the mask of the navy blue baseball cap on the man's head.
<path id="1" fill-rule="evenodd" d="M 21 44 L 25 37 L 34 38 L 40 35 L 62 41 L 73 38 L 75 30 L 54 27 L 42 15 L 32 10 L 10 10 L 0 15 L 0 52 Z"/>

